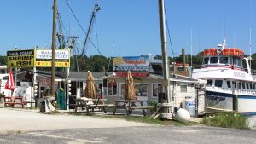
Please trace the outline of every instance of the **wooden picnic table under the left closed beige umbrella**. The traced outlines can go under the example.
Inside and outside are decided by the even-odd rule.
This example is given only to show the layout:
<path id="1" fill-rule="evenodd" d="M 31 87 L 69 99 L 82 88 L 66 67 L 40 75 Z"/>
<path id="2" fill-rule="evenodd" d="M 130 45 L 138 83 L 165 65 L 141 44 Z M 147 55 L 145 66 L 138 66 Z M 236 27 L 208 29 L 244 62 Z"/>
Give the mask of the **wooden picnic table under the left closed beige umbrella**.
<path id="1" fill-rule="evenodd" d="M 80 107 L 82 110 L 86 109 L 86 112 L 89 113 L 94 112 L 96 108 L 103 110 L 103 112 L 107 113 L 106 107 L 113 107 L 111 104 L 107 104 L 107 99 L 84 99 L 78 98 L 74 99 L 75 101 L 75 113 L 77 113 L 78 108 Z"/>

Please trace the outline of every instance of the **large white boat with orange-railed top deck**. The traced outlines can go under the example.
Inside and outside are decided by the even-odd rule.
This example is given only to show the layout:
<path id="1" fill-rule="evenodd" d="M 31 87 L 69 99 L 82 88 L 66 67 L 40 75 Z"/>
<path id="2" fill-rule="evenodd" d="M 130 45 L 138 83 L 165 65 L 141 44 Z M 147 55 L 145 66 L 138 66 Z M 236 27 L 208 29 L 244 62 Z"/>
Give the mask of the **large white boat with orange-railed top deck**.
<path id="1" fill-rule="evenodd" d="M 205 107 L 256 115 L 256 81 L 249 66 L 250 58 L 245 57 L 243 49 L 225 46 L 224 40 L 218 48 L 205 49 L 201 53 L 201 67 L 192 72 L 192 78 L 207 80 Z"/>

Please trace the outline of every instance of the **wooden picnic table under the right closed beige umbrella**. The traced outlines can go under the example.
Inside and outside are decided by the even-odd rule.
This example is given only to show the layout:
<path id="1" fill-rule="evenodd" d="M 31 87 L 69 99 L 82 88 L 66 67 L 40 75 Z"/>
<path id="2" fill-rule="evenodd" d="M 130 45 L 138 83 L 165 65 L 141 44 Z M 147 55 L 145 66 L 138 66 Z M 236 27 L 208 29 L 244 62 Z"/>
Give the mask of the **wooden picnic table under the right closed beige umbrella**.
<path id="1" fill-rule="evenodd" d="M 116 109 L 125 109 L 127 116 L 129 116 L 132 110 L 142 109 L 143 115 L 146 116 L 145 109 L 153 108 L 153 106 L 143 106 L 143 103 L 146 103 L 145 100 L 115 100 L 114 102 L 113 114 L 115 114 Z"/>

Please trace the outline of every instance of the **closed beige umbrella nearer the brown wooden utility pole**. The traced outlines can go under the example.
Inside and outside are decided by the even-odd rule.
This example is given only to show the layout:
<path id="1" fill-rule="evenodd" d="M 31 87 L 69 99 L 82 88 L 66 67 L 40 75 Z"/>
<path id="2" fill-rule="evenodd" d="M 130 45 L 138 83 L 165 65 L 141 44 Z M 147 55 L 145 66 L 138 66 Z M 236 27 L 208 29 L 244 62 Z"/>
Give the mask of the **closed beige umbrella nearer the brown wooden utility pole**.
<path id="1" fill-rule="evenodd" d="M 87 80 L 85 87 L 85 96 L 87 98 L 95 99 L 96 98 L 96 90 L 95 90 L 95 81 L 90 71 L 87 72 Z"/>

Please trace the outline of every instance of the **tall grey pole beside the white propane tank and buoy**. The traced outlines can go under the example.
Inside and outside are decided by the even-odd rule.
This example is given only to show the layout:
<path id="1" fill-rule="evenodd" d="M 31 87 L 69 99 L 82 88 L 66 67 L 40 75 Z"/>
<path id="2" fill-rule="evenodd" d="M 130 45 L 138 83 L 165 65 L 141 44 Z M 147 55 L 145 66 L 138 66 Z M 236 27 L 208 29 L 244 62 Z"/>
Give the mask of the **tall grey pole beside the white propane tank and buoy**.
<path id="1" fill-rule="evenodd" d="M 166 43 L 166 14 L 165 14 L 165 1 L 159 0 L 159 17 L 160 17 L 160 38 L 161 38 L 161 51 L 163 57 L 163 77 L 164 77 L 164 88 L 167 98 L 167 102 L 171 103 L 172 95 L 170 90 L 170 72 L 169 63 L 167 56 L 167 43 Z M 170 113 L 170 112 L 169 112 Z M 172 112 L 171 112 L 172 113 Z"/>

